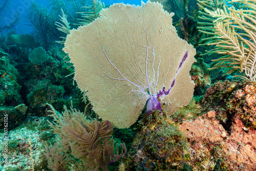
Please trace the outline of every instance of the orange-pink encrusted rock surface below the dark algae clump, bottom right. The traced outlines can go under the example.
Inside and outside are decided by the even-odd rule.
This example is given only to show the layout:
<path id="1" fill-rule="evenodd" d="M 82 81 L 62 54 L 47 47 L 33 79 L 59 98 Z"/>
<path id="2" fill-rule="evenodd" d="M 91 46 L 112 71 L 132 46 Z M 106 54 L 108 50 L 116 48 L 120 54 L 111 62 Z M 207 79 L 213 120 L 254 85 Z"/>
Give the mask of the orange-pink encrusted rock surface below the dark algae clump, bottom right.
<path id="1" fill-rule="evenodd" d="M 211 170 L 216 166 L 227 170 L 255 170 L 256 130 L 246 128 L 235 115 L 228 133 L 217 116 L 215 111 L 209 111 L 179 126 L 189 142 L 187 164 L 196 170 Z"/>

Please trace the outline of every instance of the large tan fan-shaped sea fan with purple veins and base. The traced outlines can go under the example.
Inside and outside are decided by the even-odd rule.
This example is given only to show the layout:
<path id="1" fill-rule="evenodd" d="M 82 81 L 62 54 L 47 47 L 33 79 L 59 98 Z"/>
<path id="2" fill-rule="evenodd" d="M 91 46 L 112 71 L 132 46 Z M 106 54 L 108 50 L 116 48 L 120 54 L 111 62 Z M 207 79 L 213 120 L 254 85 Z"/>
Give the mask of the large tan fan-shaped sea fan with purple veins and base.
<path id="1" fill-rule="evenodd" d="M 196 50 L 178 37 L 173 15 L 159 3 L 113 4 L 91 24 L 71 30 L 63 50 L 101 118 L 124 128 L 136 122 L 148 99 L 148 112 L 165 103 L 168 115 L 189 103 Z"/>

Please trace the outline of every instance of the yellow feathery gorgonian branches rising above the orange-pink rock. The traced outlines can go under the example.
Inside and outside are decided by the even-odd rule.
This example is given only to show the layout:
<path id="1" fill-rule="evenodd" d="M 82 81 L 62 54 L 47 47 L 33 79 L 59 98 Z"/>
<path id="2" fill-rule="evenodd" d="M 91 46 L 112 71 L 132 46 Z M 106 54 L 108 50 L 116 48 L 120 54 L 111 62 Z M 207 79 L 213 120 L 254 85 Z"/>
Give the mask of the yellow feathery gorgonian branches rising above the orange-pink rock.
<path id="1" fill-rule="evenodd" d="M 211 69 L 225 68 L 224 75 L 236 72 L 234 77 L 256 81 L 256 1 L 233 0 L 228 3 L 232 6 L 224 4 L 216 10 L 204 8 L 208 18 L 215 19 L 211 26 L 199 28 L 203 33 L 214 35 L 203 39 L 206 43 L 202 45 L 215 46 L 206 54 L 223 54 L 212 60 L 216 65 Z"/>

